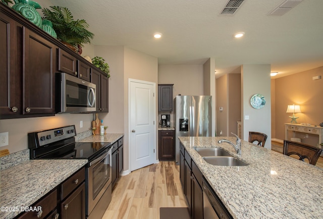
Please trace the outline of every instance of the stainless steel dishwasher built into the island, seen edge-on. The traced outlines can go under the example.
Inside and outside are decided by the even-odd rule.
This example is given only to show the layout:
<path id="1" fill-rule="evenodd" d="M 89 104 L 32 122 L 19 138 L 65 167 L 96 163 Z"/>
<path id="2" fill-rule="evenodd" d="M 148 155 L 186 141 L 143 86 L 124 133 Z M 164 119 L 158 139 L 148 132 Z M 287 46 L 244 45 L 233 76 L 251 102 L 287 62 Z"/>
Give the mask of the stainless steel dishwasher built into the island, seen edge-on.
<path id="1" fill-rule="evenodd" d="M 233 218 L 204 177 L 202 189 L 204 219 Z"/>

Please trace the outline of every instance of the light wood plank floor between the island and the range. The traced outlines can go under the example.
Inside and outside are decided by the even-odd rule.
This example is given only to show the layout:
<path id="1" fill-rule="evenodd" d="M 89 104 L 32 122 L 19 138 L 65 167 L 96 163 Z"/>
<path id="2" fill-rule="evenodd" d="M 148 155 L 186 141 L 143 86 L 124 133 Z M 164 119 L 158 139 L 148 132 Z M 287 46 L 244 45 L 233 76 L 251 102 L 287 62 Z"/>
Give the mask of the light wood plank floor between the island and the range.
<path id="1" fill-rule="evenodd" d="M 163 162 L 121 176 L 102 219 L 159 219 L 159 207 L 187 207 L 179 166 Z"/>

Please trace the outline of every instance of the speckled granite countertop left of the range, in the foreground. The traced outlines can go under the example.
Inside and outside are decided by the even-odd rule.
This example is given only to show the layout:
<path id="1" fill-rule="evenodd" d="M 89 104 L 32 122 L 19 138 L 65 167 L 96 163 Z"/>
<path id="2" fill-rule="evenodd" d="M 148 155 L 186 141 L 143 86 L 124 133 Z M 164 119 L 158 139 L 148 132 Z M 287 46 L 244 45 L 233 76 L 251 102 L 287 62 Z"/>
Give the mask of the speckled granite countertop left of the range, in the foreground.
<path id="1" fill-rule="evenodd" d="M 86 159 L 27 160 L 0 172 L 0 206 L 31 206 L 85 164 Z M 21 211 L 0 211 L 0 218 L 13 218 Z"/>

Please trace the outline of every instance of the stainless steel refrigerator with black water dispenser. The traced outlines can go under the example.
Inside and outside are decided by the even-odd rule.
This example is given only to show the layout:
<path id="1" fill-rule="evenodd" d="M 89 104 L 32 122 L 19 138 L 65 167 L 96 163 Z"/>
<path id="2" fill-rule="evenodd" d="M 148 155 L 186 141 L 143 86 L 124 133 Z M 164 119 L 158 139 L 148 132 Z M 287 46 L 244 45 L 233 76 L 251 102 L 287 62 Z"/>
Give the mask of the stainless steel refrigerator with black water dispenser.
<path id="1" fill-rule="evenodd" d="M 212 97 L 176 96 L 174 110 L 176 164 L 179 165 L 179 136 L 212 136 Z"/>

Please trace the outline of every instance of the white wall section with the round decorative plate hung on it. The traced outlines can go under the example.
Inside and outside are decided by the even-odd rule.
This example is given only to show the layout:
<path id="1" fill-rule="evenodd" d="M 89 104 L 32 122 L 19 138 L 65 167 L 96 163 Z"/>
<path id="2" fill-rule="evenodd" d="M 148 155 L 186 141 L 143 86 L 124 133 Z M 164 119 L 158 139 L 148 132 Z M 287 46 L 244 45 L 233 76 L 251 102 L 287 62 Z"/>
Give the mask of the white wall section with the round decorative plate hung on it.
<path id="1" fill-rule="evenodd" d="M 267 142 L 271 142 L 271 65 L 244 64 L 241 69 L 241 120 L 242 136 L 248 141 L 249 131 L 265 133 Z M 265 97 L 266 104 L 261 109 L 254 109 L 250 105 L 250 98 L 254 94 Z M 249 120 L 245 116 L 249 116 Z M 265 144 L 271 149 L 271 143 Z"/>

